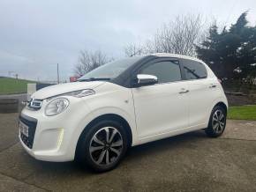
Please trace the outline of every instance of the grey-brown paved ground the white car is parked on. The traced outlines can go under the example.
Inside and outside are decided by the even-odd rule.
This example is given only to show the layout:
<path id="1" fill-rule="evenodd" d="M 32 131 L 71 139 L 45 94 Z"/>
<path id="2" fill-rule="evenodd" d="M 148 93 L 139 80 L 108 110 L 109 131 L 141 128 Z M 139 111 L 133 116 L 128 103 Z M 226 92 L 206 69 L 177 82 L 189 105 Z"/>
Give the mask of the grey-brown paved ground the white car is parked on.
<path id="1" fill-rule="evenodd" d="M 93 174 L 31 158 L 17 117 L 0 114 L 0 191 L 256 191 L 256 122 L 229 121 L 217 139 L 196 131 L 140 145 L 117 169 Z"/>

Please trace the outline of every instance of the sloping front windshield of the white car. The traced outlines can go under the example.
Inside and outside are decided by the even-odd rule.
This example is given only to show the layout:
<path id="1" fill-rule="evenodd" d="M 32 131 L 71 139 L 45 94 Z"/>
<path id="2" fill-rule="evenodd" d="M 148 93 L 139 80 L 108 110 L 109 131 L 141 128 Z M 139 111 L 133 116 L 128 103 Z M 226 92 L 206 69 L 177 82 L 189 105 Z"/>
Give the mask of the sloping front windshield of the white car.
<path id="1" fill-rule="evenodd" d="M 112 78 L 117 78 L 122 72 L 124 72 L 124 70 L 127 70 L 133 63 L 138 62 L 142 57 L 143 56 L 132 56 L 103 64 L 79 78 L 78 81 L 110 80 Z"/>

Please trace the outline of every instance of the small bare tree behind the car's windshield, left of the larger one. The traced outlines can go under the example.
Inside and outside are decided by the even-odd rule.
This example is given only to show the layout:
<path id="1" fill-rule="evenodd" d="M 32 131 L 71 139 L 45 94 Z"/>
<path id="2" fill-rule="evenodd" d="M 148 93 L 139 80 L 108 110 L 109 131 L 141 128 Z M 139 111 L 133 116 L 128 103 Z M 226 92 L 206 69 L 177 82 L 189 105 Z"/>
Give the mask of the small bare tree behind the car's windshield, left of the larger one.
<path id="1" fill-rule="evenodd" d="M 112 60 L 112 58 L 108 58 L 107 55 L 103 54 L 100 50 L 94 52 L 81 50 L 74 72 L 77 76 L 80 77 L 87 72 L 101 66 L 102 64 L 109 63 Z"/>

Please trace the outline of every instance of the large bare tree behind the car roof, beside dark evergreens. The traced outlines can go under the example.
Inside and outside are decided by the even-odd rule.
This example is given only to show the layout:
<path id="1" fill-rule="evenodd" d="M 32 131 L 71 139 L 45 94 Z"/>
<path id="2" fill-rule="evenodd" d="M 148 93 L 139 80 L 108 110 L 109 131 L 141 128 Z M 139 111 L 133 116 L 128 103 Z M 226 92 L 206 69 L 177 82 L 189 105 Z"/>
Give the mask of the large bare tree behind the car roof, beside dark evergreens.
<path id="1" fill-rule="evenodd" d="M 203 22 L 201 15 L 180 15 L 162 25 L 154 33 L 153 39 L 143 46 L 131 44 L 124 49 L 125 55 L 141 55 L 149 53 L 173 53 L 195 55 L 195 44 L 201 38 Z M 127 51 L 129 50 L 129 51 Z M 127 54 L 129 53 L 129 54 Z"/>

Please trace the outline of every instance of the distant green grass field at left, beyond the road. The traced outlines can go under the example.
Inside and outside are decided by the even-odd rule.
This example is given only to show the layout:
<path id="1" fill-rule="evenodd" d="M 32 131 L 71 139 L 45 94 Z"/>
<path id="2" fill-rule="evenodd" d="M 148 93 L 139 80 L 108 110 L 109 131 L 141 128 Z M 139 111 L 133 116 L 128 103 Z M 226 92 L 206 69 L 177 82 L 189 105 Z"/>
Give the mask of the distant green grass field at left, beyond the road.
<path id="1" fill-rule="evenodd" d="M 11 94 L 26 92 L 26 84 L 34 83 L 16 78 L 0 78 L 0 94 Z"/>

